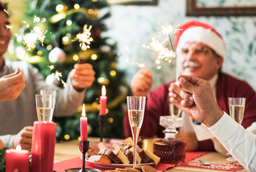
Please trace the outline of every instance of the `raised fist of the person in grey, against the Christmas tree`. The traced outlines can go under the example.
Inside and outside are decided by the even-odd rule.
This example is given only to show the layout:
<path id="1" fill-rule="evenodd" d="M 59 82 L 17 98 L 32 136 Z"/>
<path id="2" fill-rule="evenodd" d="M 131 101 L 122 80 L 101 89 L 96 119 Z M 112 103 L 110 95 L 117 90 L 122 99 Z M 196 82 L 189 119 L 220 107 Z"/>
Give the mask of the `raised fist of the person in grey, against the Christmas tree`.
<path id="1" fill-rule="evenodd" d="M 75 90 L 80 91 L 86 87 L 91 87 L 94 82 L 95 71 L 91 64 L 75 64 L 74 69 L 70 71 L 71 82 Z"/>

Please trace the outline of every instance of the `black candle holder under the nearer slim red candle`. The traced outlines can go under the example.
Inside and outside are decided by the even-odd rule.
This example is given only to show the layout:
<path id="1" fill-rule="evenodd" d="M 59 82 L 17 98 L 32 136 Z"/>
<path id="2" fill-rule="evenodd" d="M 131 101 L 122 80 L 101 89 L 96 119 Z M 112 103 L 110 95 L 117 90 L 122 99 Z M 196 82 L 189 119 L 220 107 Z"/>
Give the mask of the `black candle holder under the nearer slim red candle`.
<path id="1" fill-rule="evenodd" d="M 86 168 L 86 152 L 89 149 L 89 141 L 79 141 L 80 152 L 83 153 L 83 167 L 82 168 L 69 168 L 64 172 L 102 172 L 94 168 Z"/>

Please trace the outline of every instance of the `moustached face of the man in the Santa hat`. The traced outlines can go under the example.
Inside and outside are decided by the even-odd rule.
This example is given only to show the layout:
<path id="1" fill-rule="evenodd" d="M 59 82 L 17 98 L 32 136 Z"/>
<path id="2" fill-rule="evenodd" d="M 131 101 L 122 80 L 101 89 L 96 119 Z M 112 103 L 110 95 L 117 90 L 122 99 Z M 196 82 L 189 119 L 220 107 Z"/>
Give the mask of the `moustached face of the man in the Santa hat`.
<path id="1" fill-rule="evenodd" d="M 181 74 L 209 80 L 217 74 L 223 58 L 214 55 L 206 44 L 187 42 L 181 50 Z"/>

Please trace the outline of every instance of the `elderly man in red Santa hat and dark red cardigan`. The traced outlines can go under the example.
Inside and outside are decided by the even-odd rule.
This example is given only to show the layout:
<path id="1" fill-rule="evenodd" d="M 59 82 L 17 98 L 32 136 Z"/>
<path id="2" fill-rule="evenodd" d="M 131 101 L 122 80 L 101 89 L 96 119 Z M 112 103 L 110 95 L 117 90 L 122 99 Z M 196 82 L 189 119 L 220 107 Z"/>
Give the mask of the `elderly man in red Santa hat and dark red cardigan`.
<path id="1" fill-rule="evenodd" d="M 244 128 L 249 127 L 252 122 L 256 121 L 255 91 L 246 82 L 220 72 L 225 56 L 225 42 L 220 34 L 212 26 L 198 21 L 189 21 L 180 28 L 182 30 L 177 32 L 175 38 L 178 71 L 181 71 L 181 74 L 208 80 L 211 83 L 214 98 L 220 108 L 227 113 L 229 112 L 229 97 L 246 98 L 242 125 Z M 148 93 L 152 85 L 151 71 L 141 69 L 132 78 L 132 93 L 147 96 L 140 136 L 163 137 L 164 128 L 159 126 L 159 116 L 170 115 L 169 103 L 172 102 L 182 110 L 181 117 L 184 118 L 184 126 L 179 128 L 176 138 L 187 144 L 188 151 L 218 150 L 226 153 L 223 146 L 218 144 L 217 139 L 206 130 L 205 125 L 196 125 L 192 122 L 189 110 L 180 105 L 181 88 L 173 82 L 160 85 Z M 124 117 L 124 131 L 126 136 L 131 136 L 127 115 Z"/>

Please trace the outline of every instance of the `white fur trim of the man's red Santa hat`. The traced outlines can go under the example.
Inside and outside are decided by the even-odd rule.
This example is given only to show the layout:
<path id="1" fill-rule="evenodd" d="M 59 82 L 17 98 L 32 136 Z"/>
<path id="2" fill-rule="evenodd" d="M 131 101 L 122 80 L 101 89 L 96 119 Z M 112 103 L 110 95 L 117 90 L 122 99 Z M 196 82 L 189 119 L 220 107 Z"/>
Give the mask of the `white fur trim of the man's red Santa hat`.
<path id="1" fill-rule="evenodd" d="M 225 57 L 226 47 L 223 39 L 211 29 L 203 27 L 188 28 L 178 40 L 177 55 L 181 55 L 181 49 L 186 42 L 201 42 L 211 47 L 218 55 Z"/>

